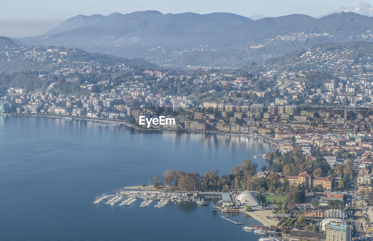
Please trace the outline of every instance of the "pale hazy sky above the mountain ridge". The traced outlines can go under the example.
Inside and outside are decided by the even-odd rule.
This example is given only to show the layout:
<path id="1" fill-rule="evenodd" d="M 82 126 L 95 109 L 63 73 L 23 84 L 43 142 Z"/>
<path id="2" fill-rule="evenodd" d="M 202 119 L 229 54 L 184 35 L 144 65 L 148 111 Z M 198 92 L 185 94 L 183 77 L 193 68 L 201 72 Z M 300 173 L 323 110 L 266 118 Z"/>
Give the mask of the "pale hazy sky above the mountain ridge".
<path id="1" fill-rule="evenodd" d="M 109 15 L 158 10 L 166 13 L 230 12 L 268 17 L 302 13 L 315 16 L 338 10 L 356 0 L 0 0 L 0 36 L 38 36 L 79 14 Z"/>

